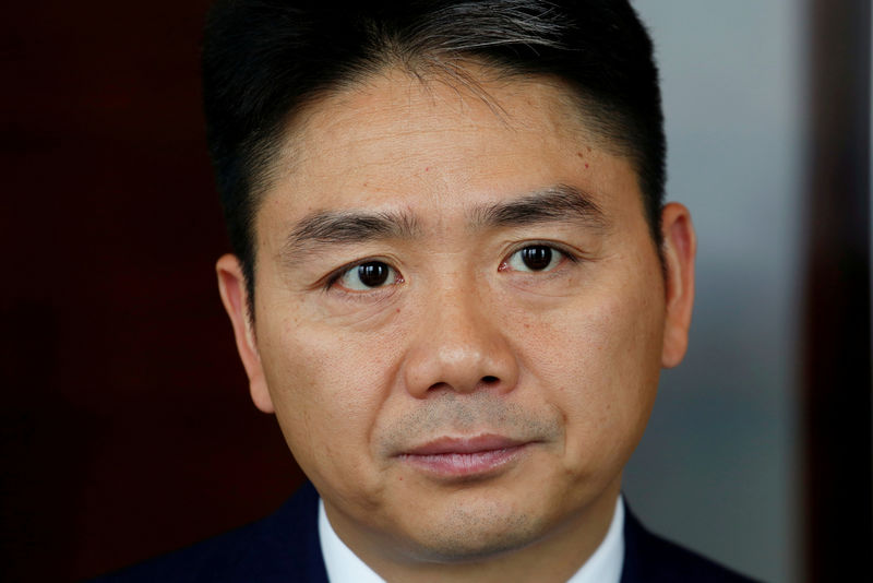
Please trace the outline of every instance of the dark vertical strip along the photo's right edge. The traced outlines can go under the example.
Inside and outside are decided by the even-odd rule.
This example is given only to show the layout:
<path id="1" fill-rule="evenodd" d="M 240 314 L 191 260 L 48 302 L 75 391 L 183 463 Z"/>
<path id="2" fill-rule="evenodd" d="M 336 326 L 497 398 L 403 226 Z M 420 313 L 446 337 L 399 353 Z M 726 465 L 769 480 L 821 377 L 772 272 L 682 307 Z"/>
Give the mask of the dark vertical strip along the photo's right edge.
<path id="1" fill-rule="evenodd" d="M 810 581 L 873 581 L 870 0 L 811 0 L 805 304 Z"/>

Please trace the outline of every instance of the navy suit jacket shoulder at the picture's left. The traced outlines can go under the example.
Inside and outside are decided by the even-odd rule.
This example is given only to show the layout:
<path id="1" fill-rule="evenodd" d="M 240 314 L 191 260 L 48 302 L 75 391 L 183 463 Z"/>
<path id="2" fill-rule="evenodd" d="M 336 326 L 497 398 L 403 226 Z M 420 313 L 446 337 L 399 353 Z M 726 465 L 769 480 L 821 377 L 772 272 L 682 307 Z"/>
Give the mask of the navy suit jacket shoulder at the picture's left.
<path id="1" fill-rule="evenodd" d="M 270 516 L 94 583 L 326 582 L 318 533 L 318 493 L 304 484 Z"/>

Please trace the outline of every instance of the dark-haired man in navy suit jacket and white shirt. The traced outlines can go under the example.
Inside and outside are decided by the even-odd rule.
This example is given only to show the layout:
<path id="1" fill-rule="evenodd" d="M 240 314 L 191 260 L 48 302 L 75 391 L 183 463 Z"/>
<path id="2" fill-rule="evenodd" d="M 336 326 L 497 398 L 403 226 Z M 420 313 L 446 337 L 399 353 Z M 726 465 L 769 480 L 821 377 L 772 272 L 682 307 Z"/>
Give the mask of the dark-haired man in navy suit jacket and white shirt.
<path id="1" fill-rule="evenodd" d="M 127 576 L 746 581 L 620 496 L 695 251 L 633 9 L 366 4 L 219 2 L 204 48 L 222 299 L 314 489 Z"/>

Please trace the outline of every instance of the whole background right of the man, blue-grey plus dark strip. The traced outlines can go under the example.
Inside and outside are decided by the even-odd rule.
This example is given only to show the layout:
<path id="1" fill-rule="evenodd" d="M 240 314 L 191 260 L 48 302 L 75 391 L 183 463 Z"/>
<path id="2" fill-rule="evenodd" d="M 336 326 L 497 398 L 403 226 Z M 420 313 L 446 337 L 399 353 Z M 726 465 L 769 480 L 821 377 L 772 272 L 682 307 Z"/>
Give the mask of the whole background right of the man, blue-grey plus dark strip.
<path id="1" fill-rule="evenodd" d="M 687 357 L 625 493 L 755 578 L 873 580 L 870 2 L 635 5 L 661 67 L 668 198 L 699 248 Z"/>

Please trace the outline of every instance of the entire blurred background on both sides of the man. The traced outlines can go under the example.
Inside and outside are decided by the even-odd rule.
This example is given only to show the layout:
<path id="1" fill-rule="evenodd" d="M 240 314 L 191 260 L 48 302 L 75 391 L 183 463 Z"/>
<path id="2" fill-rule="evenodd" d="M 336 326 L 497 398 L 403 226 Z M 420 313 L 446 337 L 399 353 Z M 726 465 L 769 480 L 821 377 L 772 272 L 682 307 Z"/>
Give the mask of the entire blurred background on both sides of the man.
<path id="1" fill-rule="evenodd" d="M 130 564 L 302 479 L 215 286 L 207 4 L 4 7 L 0 580 Z M 627 500 L 765 581 L 873 580 L 870 1 L 635 5 L 699 255 L 691 348 Z"/>

